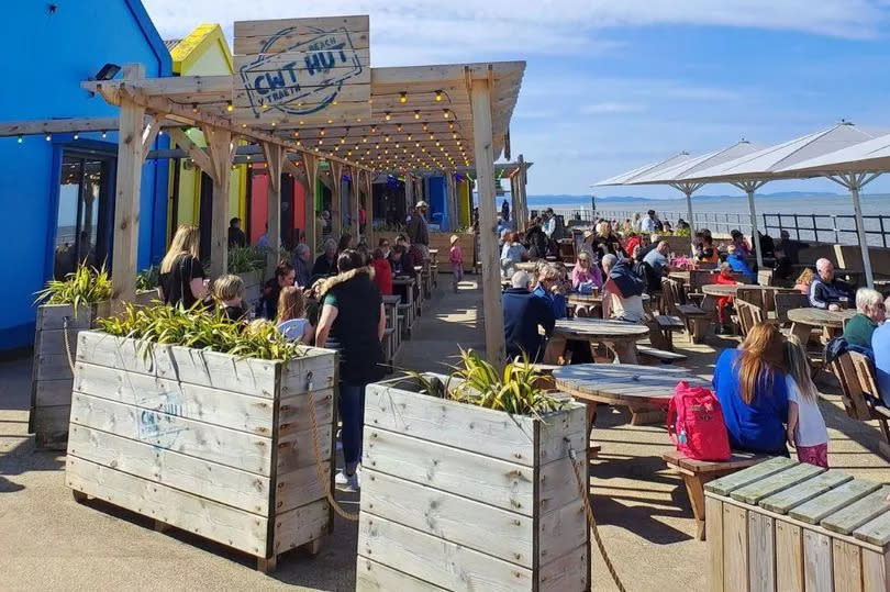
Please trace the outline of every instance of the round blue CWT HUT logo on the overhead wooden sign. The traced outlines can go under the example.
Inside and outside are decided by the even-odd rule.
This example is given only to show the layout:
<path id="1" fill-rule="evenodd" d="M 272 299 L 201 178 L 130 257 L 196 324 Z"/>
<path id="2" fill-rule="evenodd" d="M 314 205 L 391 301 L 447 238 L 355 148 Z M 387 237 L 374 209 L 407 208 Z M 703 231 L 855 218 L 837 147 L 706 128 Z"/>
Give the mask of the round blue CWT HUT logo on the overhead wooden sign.
<path id="1" fill-rule="evenodd" d="M 346 80 L 363 71 L 345 27 L 312 27 L 311 38 L 271 53 L 275 44 L 296 29 L 272 35 L 260 49 L 262 55 L 241 67 L 241 79 L 256 118 L 267 109 L 290 115 L 316 113 L 336 100 Z"/>

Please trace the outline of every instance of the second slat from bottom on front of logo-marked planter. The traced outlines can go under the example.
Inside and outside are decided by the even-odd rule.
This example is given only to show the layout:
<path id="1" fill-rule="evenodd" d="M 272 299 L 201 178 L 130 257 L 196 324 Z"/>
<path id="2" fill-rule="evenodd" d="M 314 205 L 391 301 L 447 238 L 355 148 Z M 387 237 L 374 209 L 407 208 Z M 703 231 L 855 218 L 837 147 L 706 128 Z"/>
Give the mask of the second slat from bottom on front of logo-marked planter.
<path id="1" fill-rule="evenodd" d="M 269 511 L 267 477 L 155 448 L 151 444 L 73 425 L 68 455 L 260 516 L 266 516 Z"/>

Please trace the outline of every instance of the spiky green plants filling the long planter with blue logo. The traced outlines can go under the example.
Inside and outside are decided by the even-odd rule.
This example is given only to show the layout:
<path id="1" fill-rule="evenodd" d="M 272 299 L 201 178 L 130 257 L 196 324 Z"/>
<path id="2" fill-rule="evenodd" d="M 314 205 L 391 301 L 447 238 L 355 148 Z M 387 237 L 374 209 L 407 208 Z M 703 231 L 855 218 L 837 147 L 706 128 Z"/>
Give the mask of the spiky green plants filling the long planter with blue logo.
<path id="1" fill-rule="evenodd" d="M 231 354 L 238 358 L 289 360 L 305 355 L 307 347 L 289 342 L 274 323 L 255 321 L 249 325 L 231 321 L 222 309 L 135 306 L 124 303 L 118 316 L 100 319 L 99 327 L 115 337 L 137 339 L 146 355 L 152 344 L 180 345 Z"/>

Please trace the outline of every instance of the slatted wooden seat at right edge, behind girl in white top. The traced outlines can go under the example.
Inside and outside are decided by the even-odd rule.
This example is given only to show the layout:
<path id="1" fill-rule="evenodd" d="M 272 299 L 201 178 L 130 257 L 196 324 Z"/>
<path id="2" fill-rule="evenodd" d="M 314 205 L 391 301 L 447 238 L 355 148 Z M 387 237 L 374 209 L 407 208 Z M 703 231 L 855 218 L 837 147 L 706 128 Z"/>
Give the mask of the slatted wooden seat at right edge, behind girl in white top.
<path id="1" fill-rule="evenodd" d="M 878 393 L 871 362 L 858 351 L 847 351 L 831 364 L 831 370 L 841 383 L 841 401 L 847 415 L 864 422 L 878 421 L 883 436 L 878 443 L 878 453 L 890 459 L 890 409 Z"/>

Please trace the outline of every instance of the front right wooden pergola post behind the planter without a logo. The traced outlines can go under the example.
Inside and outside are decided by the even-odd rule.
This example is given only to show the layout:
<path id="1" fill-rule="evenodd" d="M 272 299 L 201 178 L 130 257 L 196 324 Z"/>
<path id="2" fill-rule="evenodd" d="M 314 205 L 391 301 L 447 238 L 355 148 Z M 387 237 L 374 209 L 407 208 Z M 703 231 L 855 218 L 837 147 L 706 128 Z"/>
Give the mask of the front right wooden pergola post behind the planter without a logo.
<path id="1" fill-rule="evenodd" d="M 482 303 L 486 323 L 486 358 L 500 367 L 505 354 L 501 269 L 494 241 L 494 149 L 491 141 L 491 87 L 489 80 L 474 80 L 472 141 L 479 191 L 479 237 L 482 246 Z"/>

